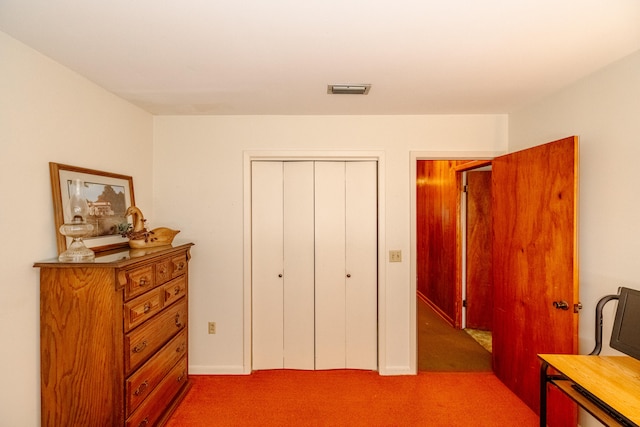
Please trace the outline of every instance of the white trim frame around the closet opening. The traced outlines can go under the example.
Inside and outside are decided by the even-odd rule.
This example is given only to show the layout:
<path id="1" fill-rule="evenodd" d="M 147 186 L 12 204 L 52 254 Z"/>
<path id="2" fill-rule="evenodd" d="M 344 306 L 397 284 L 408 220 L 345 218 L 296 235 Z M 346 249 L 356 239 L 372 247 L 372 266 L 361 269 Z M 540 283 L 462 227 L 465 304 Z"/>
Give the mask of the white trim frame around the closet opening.
<path id="1" fill-rule="evenodd" d="M 243 373 L 252 371 L 251 337 L 251 162 L 263 161 L 375 161 L 378 165 L 378 372 L 388 375 L 386 366 L 386 240 L 385 240 L 385 153 L 384 151 L 244 151 L 243 152 Z M 415 180 L 415 179 L 414 179 Z M 414 309 L 415 311 L 415 309 Z M 415 313 L 414 313 L 415 323 Z"/>

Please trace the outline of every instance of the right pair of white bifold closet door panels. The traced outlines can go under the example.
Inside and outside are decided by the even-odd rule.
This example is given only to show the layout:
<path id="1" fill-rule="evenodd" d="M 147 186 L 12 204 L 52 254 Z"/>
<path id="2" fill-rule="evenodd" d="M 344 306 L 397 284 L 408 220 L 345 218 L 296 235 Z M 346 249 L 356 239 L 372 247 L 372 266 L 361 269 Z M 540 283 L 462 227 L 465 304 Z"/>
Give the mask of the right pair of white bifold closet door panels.
<path id="1" fill-rule="evenodd" d="M 316 369 L 377 368 L 377 164 L 316 162 Z"/>

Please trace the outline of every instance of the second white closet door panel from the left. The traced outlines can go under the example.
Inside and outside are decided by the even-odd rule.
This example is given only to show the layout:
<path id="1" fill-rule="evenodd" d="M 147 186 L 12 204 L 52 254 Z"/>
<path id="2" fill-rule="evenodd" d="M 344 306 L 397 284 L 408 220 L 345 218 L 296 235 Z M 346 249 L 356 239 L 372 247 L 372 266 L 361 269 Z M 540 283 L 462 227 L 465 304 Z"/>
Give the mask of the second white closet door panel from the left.
<path id="1" fill-rule="evenodd" d="M 284 163 L 284 367 L 314 369 L 314 165 Z"/>

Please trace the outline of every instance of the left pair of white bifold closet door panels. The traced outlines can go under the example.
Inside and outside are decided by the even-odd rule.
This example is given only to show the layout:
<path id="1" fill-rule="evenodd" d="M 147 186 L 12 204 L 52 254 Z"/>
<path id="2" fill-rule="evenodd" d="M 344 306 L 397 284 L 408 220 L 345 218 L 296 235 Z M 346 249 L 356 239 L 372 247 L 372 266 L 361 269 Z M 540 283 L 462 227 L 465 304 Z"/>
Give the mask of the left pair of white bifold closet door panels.
<path id="1" fill-rule="evenodd" d="M 253 369 L 314 369 L 313 162 L 252 162 Z"/>

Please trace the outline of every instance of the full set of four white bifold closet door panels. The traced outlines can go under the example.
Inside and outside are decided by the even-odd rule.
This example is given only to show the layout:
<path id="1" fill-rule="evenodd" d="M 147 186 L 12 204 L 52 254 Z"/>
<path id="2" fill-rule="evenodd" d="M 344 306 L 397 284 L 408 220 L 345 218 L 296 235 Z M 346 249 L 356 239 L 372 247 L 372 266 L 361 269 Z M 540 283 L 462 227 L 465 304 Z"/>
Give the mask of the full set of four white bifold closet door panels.
<path id="1" fill-rule="evenodd" d="M 253 369 L 377 368 L 377 164 L 252 163 Z"/>

